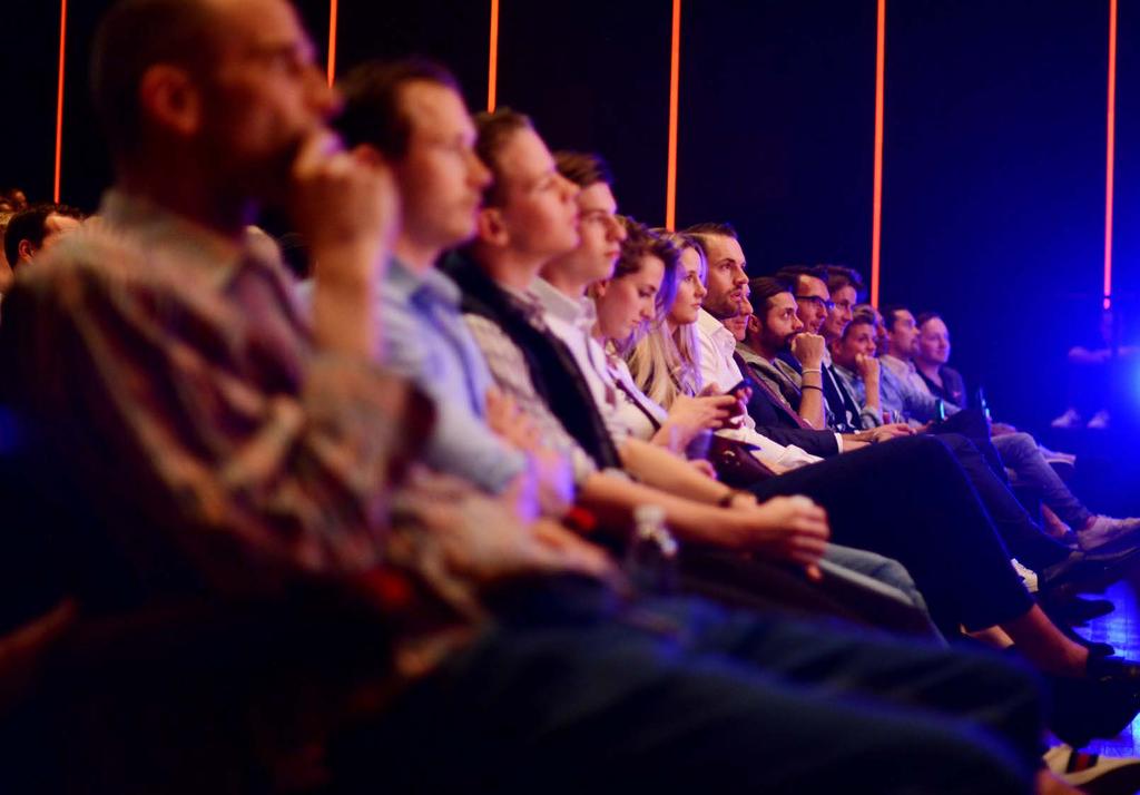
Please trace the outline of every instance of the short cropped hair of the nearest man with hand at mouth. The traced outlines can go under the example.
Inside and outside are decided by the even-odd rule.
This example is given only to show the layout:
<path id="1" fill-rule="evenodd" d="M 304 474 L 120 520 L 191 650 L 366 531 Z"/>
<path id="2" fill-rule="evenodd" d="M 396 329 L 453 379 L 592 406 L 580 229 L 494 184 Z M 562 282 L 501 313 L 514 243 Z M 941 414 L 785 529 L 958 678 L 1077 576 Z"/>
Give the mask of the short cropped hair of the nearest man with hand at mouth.
<path id="1" fill-rule="evenodd" d="M 139 144 L 146 71 L 160 63 L 204 70 L 217 56 L 215 26 L 199 0 L 121 0 L 104 15 L 91 46 L 91 97 L 112 152 Z"/>

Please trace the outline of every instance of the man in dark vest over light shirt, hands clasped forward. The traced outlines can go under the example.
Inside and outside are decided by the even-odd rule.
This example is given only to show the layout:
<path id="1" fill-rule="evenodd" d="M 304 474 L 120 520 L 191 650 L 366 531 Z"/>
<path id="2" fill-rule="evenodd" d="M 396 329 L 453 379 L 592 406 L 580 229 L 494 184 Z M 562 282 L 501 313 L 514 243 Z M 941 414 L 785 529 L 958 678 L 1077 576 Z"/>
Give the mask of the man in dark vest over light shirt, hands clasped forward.
<path id="1" fill-rule="evenodd" d="M 479 147 L 496 182 L 487 192 L 479 234 L 447 271 L 464 291 L 467 323 L 500 389 L 528 412 L 552 413 L 593 460 L 594 470 L 579 480 L 579 501 L 601 500 L 600 510 L 611 513 L 617 498 L 627 518 L 638 500 L 656 501 L 682 537 L 714 544 L 738 537 L 763 546 L 775 529 L 767 525 L 769 509 L 660 446 L 630 438 L 619 422 L 603 416 L 591 376 L 543 319 L 542 301 L 530 290 L 547 261 L 578 245 L 577 187 L 557 173 L 545 144 L 520 114 L 480 117 Z M 502 151 L 510 156 L 500 156 Z M 584 308 L 578 305 L 576 311 Z M 580 326 L 578 332 L 585 346 L 589 332 Z M 626 469 L 643 482 L 598 469 Z"/>

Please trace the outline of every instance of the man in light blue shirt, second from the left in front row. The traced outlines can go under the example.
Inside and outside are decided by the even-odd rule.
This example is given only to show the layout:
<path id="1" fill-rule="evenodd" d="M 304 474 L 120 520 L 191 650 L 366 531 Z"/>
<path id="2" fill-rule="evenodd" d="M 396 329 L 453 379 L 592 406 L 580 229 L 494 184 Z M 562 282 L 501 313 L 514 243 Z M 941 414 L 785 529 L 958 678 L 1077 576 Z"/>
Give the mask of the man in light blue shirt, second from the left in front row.
<path id="1" fill-rule="evenodd" d="M 435 424 L 424 460 L 432 468 L 478 485 L 490 494 L 507 490 L 520 478 L 535 479 L 544 509 L 564 512 L 570 473 L 562 453 L 510 423 L 492 429 L 498 406 L 483 356 L 459 314 L 458 287 L 435 269 L 440 254 L 474 233 L 475 211 L 490 173 L 475 156 L 474 127 L 454 79 L 430 64 L 408 63 L 352 72 L 343 88 L 349 104 L 339 122 L 352 145 L 374 157 L 392 157 L 369 92 L 393 83 L 406 124 L 394 148 L 404 224 L 393 243 L 376 317 L 383 318 L 384 344 L 377 351 L 390 371 L 404 375 L 432 398 Z M 386 71 L 385 71 L 386 70 Z M 404 109 L 406 108 L 406 109 Z M 429 157 L 437 140 L 459 147 L 458 163 Z M 374 144 L 373 141 L 380 141 Z M 490 405 L 488 405 L 490 403 Z M 502 401 L 499 401 L 502 403 Z M 518 432 L 515 432 L 518 431 Z M 524 437 L 530 438 L 524 439 Z"/>

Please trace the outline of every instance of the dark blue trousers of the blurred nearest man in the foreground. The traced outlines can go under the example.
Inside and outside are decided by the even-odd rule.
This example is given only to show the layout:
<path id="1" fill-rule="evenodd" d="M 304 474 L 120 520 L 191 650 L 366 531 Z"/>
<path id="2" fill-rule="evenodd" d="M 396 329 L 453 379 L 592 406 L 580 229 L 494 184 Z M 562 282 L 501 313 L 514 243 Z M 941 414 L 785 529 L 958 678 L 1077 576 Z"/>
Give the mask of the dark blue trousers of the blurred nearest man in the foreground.
<path id="1" fill-rule="evenodd" d="M 1036 688 L 1004 660 L 694 600 L 530 615 L 344 737 L 336 792 L 1029 789 Z"/>

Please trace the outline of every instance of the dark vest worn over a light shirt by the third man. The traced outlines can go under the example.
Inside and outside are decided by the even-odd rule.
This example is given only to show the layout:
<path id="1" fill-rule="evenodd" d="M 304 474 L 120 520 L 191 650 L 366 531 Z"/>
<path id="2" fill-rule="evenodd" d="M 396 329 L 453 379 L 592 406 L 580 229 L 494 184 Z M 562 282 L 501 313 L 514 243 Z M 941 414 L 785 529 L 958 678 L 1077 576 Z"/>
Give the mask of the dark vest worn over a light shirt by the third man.
<path id="1" fill-rule="evenodd" d="M 594 405 L 589 384 L 562 340 L 536 328 L 510 294 L 469 255 L 451 253 L 440 267 L 463 291 L 463 311 L 491 321 L 519 347 L 535 390 L 567 432 L 600 468 L 620 469 L 621 460 Z"/>

